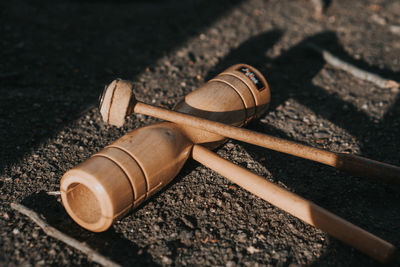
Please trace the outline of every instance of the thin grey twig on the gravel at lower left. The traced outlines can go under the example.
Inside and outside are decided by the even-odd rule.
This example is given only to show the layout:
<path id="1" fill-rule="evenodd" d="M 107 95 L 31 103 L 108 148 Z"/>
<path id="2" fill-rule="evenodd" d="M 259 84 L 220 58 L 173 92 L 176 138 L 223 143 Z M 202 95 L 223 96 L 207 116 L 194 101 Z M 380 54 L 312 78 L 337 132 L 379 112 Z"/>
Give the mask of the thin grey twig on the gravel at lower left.
<path id="1" fill-rule="evenodd" d="M 58 231 L 56 228 L 48 225 L 45 221 L 40 219 L 39 215 L 36 212 L 28 209 L 27 207 L 25 207 L 21 204 L 17 204 L 17 203 L 11 203 L 10 206 L 14 210 L 24 214 L 29 219 L 34 221 L 37 225 L 40 226 L 40 228 L 42 228 L 42 230 L 45 234 L 47 234 L 51 237 L 54 237 L 55 239 L 60 240 L 60 241 L 64 242 L 65 244 L 83 252 L 84 254 L 86 254 L 88 256 L 88 258 L 90 260 L 97 262 L 98 264 L 101 264 L 103 266 L 113 266 L 113 267 L 121 266 L 121 265 L 107 259 L 106 257 L 99 254 L 95 250 L 91 249 L 86 244 L 79 242 L 78 240 L 76 240 L 76 239 Z"/>

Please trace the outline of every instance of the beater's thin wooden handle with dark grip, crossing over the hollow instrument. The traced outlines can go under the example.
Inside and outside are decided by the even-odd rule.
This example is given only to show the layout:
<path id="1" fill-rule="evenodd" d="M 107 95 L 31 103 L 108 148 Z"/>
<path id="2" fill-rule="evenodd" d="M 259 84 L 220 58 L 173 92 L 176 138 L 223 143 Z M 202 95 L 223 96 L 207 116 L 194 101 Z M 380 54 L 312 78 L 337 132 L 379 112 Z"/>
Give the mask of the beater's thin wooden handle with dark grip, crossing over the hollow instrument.
<path id="1" fill-rule="evenodd" d="M 296 142 L 280 139 L 263 133 L 257 133 L 244 128 L 206 120 L 188 114 L 151 106 L 137 102 L 133 111 L 162 120 L 175 122 L 219 134 L 249 144 L 272 149 L 296 157 L 316 161 L 339 170 L 360 175 L 387 183 L 400 184 L 400 167 L 370 160 L 367 158 L 326 151 Z"/>

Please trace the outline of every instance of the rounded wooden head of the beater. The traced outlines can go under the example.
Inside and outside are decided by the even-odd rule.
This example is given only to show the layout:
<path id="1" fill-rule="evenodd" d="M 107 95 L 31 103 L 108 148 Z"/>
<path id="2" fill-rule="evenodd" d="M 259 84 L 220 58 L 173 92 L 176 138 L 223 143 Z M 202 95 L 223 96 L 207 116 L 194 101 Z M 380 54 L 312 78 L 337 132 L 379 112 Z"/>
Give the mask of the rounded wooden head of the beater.
<path id="1" fill-rule="evenodd" d="M 135 102 L 130 81 L 120 79 L 112 81 L 100 96 L 99 108 L 103 121 L 121 127 Z"/>

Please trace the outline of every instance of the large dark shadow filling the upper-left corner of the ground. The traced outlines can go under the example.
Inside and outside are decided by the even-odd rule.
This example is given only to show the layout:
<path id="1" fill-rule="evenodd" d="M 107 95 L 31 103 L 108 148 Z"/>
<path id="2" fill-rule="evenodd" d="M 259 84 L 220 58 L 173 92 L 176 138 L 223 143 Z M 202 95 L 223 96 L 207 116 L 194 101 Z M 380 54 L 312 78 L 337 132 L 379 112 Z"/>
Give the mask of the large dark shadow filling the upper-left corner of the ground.
<path id="1" fill-rule="evenodd" d="M 134 79 L 239 2 L 0 3 L 0 168 L 94 107 L 104 84 Z"/>

